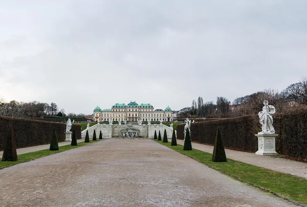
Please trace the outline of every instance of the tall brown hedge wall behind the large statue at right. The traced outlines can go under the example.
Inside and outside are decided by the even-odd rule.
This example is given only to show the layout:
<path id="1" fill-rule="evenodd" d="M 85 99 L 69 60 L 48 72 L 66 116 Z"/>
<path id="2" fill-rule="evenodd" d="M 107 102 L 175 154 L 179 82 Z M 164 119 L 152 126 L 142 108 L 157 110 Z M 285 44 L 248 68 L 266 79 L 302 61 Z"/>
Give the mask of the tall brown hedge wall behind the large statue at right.
<path id="1" fill-rule="evenodd" d="M 177 138 L 184 138 L 184 126 L 177 126 Z M 276 151 L 298 159 L 307 160 L 307 108 L 273 115 Z M 191 140 L 214 144 L 217 127 L 220 127 L 226 148 L 256 152 L 258 142 L 255 134 L 261 131 L 257 115 L 227 118 L 191 124 Z"/>

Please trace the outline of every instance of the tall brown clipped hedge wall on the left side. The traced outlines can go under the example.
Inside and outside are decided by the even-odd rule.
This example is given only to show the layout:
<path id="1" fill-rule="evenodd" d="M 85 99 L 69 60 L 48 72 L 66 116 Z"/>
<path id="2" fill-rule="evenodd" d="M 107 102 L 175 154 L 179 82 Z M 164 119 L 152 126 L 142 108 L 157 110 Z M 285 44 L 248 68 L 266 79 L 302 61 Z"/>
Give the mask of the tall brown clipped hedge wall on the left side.
<path id="1" fill-rule="evenodd" d="M 66 124 L 64 123 L 0 116 L 0 150 L 4 148 L 10 124 L 13 127 L 17 148 L 49 144 L 54 127 L 58 141 L 65 140 Z M 73 125 L 71 131 L 74 129 L 76 130 L 76 138 L 81 139 L 81 126 Z"/>

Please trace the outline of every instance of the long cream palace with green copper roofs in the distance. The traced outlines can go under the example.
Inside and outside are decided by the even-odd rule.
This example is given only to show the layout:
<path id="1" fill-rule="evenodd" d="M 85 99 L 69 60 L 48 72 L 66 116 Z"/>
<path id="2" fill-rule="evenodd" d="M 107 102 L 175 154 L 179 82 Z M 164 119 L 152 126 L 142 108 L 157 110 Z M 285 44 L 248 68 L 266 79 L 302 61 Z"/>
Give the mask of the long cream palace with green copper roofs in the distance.
<path id="1" fill-rule="evenodd" d="M 162 109 L 154 109 L 150 103 L 141 103 L 138 105 L 135 101 L 130 101 L 128 105 L 125 103 L 115 103 L 111 109 L 101 110 L 98 106 L 94 109 L 93 119 L 95 121 L 173 121 L 169 107 Z"/>

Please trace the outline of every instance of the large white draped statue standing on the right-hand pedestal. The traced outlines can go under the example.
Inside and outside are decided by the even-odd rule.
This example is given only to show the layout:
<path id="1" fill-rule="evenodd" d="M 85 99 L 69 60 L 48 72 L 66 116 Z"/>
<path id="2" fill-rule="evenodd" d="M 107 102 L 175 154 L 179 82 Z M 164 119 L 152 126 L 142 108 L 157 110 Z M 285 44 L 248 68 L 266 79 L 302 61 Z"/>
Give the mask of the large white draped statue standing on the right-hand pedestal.
<path id="1" fill-rule="evenodd" d="M 262 133 L 264 134 L 275 134 L 275 130 L 273 127 L 273 118 L 272 115 L 275 114 L 275 107 L 269 105 L 269 101 L 264 101 L 264 107 L 262 107 L 262 111 L 258 113 L 259 122 L 261 123 Z"/>

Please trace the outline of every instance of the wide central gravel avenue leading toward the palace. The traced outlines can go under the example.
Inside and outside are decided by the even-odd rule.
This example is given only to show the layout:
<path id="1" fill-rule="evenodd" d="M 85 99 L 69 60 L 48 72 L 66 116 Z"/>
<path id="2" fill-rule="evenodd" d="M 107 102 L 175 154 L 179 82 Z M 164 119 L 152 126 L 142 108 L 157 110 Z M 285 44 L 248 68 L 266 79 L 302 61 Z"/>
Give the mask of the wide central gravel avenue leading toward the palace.
<path id="1" fill-rule="evenodd" d="M 0 206 L 295 206 L 146 139 L 108 139 L 0 170 Z"/>

